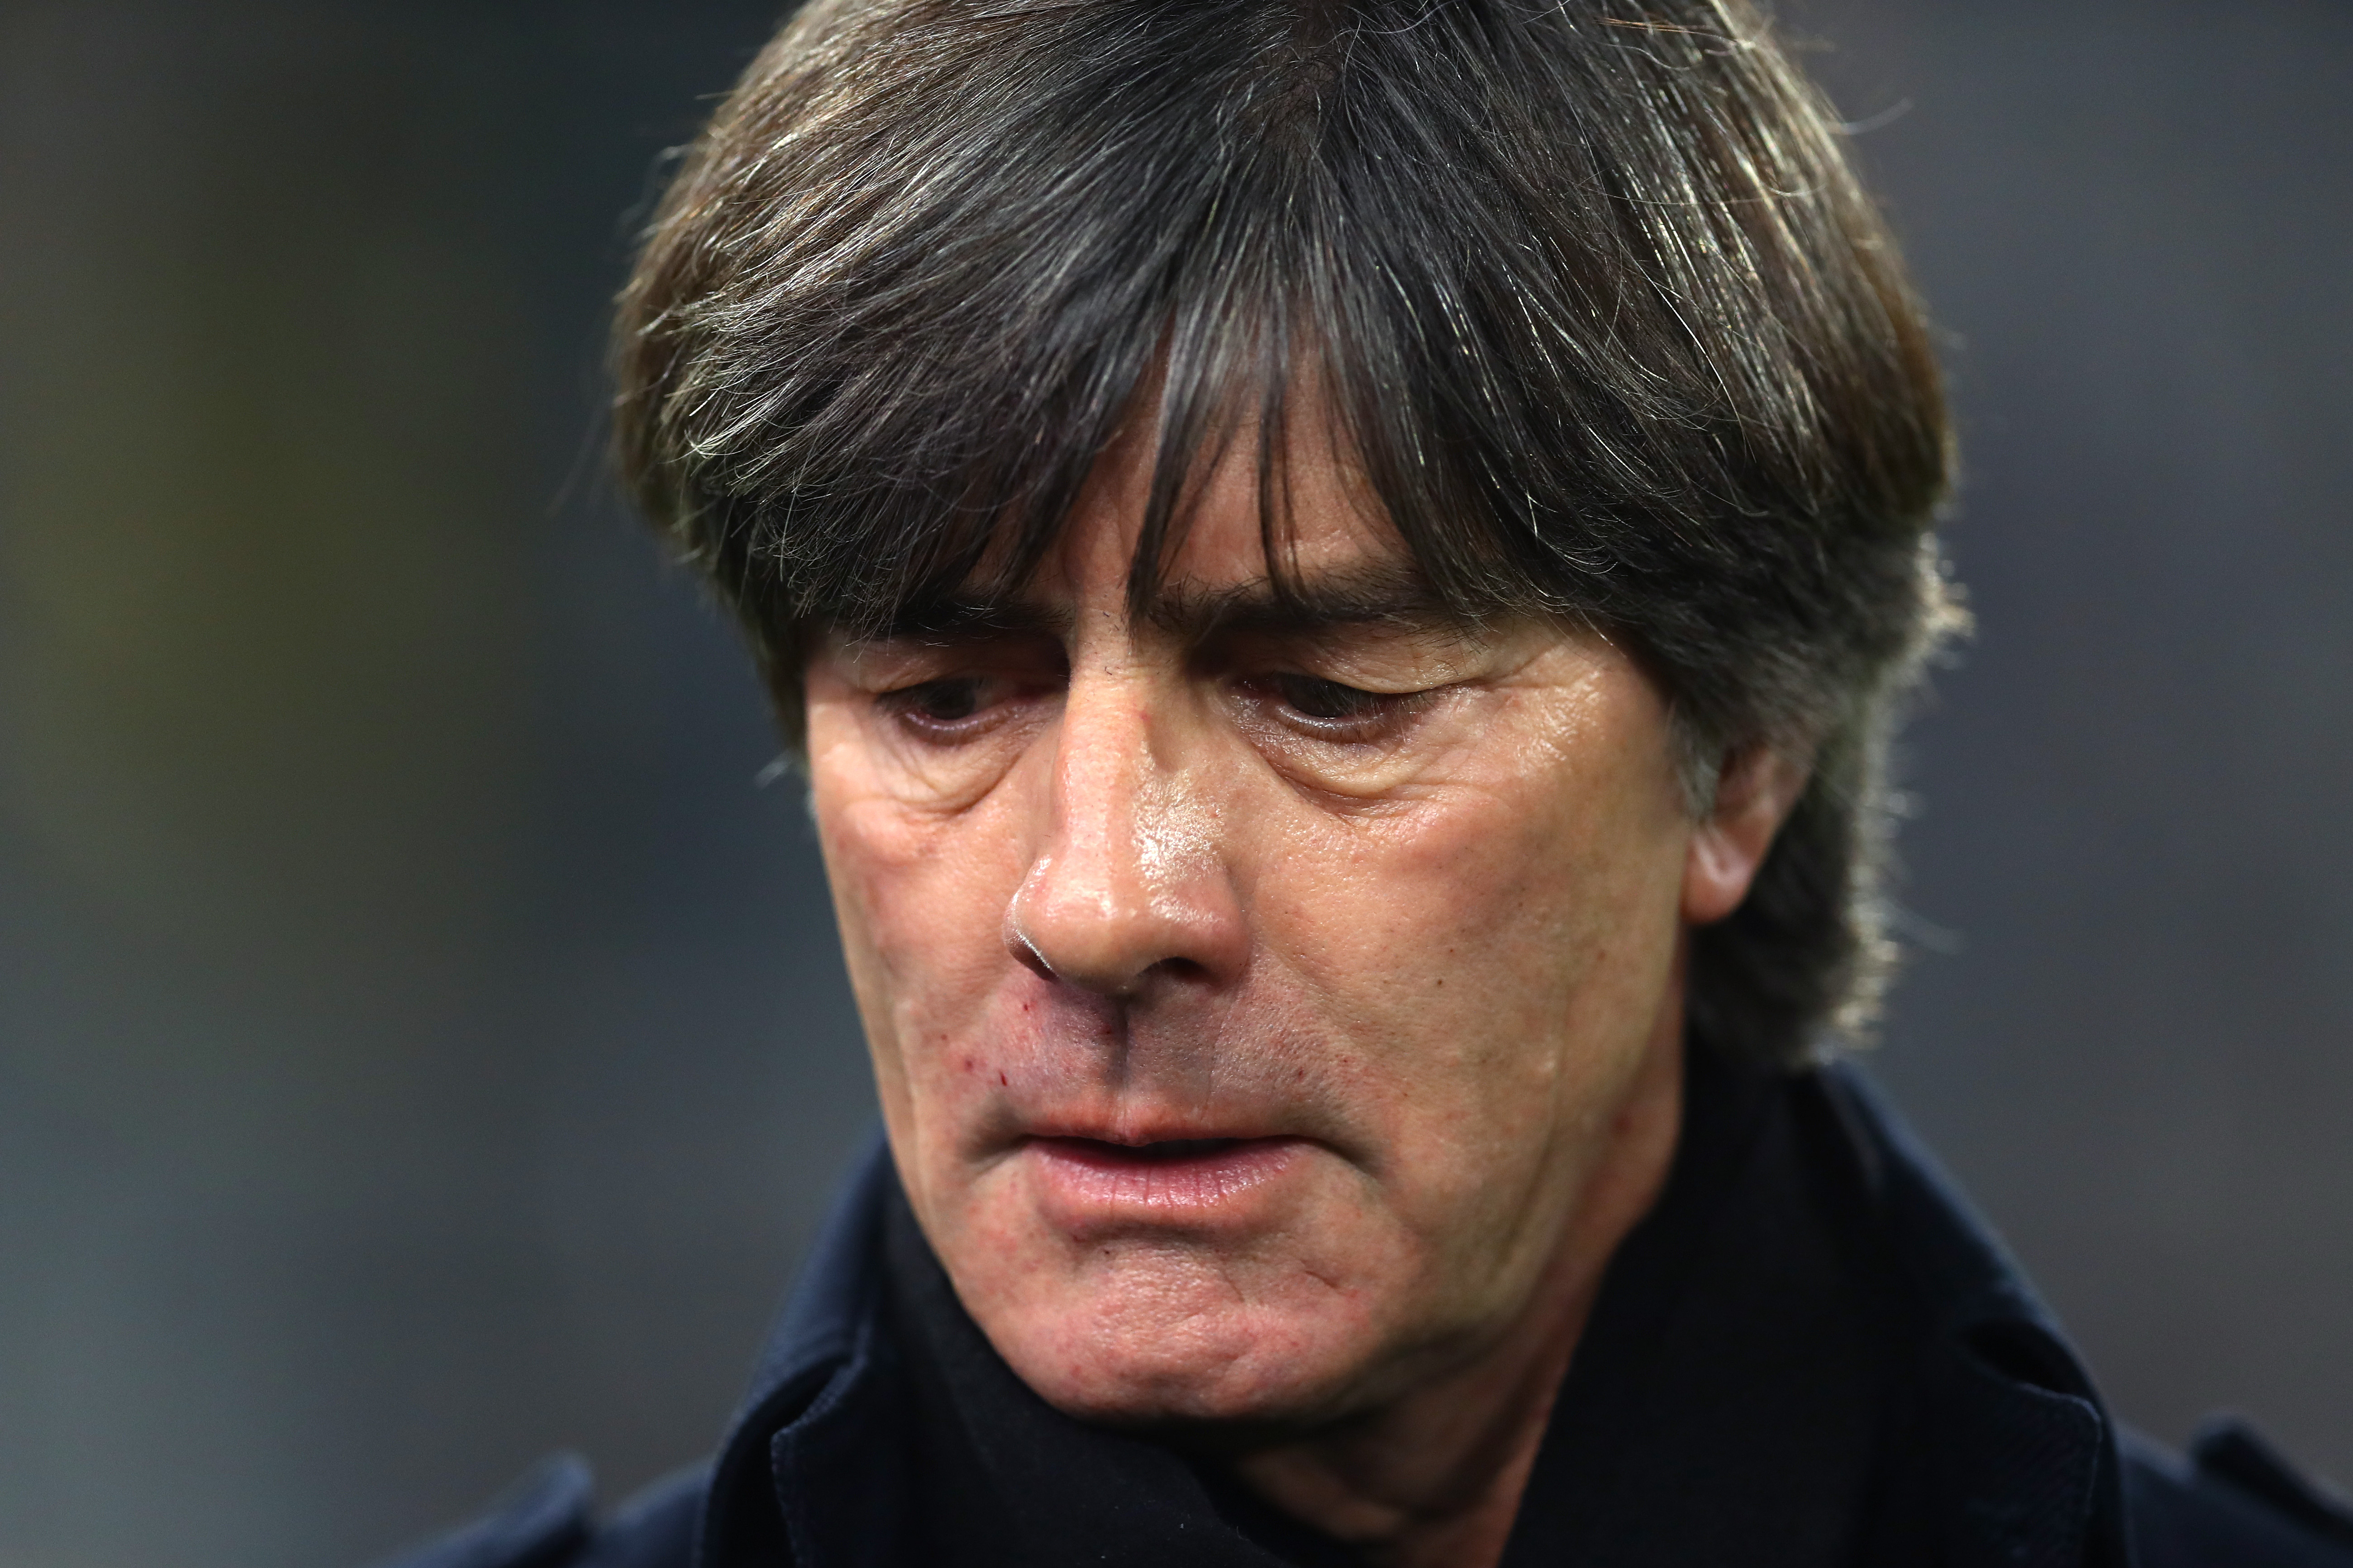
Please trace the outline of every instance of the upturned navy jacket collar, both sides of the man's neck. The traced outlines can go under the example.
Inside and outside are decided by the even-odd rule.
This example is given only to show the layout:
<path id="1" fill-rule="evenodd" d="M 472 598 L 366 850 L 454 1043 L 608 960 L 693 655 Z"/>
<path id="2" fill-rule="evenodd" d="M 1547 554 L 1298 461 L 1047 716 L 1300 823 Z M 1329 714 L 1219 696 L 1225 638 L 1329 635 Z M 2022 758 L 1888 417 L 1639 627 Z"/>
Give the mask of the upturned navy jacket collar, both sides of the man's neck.
<path id="1" fill-rule="evenodd" d="M 1831 1065 L 1786 1091 L 1838 1145 L 1857 1211 L 1922 1321 L 1899 1481 L 1929 1535 L 1918 1544 L 1955 1568 L 2129 1568 L 2113 1422 L 2026 1276 L 1861 1072 Z M 699 1568 L 887 1561 L 878 1547 L 911 1500 L 906 1476 L 875 1465 L 889 1446 L 864 1439 L 894 1418 L 875 1396 L 896 1366 L 880 1307 L 892 1182 L 875 1138 L 718 1453 Z"/>

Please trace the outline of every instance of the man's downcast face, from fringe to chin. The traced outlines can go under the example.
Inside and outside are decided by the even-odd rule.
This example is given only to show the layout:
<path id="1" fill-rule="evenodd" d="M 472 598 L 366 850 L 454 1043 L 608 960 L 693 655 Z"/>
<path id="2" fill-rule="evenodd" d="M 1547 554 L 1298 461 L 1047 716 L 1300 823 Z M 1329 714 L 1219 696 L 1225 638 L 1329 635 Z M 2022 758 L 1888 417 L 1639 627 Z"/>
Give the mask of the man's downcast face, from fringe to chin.
<path id="1" fill-rule="evenodd" d="M 1329 451 L 1254 456 L 1129 618 L 1104 461 L 991 630 L 833 639 L 809 766 L 899 1175 L 1092 1420 L 1313 1422 L 1525 1324 L 1680 1034 L 1692 820 L 1609 642 L 1449 625 Z M 1614 1241 L 1614 1237 L 1612 1237 Z"/>

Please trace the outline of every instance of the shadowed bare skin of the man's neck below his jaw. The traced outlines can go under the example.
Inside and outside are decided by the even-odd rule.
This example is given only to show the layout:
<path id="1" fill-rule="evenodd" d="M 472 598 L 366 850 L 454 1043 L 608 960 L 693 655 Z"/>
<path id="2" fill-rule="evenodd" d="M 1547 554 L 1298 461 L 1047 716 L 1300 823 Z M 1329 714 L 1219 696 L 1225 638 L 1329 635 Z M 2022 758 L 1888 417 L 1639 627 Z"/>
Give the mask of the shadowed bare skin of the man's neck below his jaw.
<path id="1" fill-rule="evenodd" d="M 1666 1185 L 1682 1126 L 1682 1030 L 1652 1039 L 1529 1307 L 1478 1356 L 1235 1476 L 1374 1568 L 1494 1568 L 1602 1269 Z"/>

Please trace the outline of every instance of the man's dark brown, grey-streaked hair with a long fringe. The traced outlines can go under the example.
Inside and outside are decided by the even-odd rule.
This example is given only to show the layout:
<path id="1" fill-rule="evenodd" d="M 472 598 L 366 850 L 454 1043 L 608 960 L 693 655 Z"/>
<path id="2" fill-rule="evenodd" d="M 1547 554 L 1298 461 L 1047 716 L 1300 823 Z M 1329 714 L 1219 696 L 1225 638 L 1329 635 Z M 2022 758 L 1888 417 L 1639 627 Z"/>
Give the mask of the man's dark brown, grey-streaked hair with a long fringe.
<path id="1" fill-rule="evenodd" d="M 1311 374 L 1445 602 L 1640 651 L 1694 809 L 1739 748 L 1812 757 L 1694 1027 L 1793 1065 L 1868 1018 L 1951 449 L 1741 0 L 819 0 L 687 150 L 614 346 L 621 473 L 795 745 L 807 628 L 1024 576 L 1158 395 L 1148 595 L 1205 449 L 1278 451 Z"/>

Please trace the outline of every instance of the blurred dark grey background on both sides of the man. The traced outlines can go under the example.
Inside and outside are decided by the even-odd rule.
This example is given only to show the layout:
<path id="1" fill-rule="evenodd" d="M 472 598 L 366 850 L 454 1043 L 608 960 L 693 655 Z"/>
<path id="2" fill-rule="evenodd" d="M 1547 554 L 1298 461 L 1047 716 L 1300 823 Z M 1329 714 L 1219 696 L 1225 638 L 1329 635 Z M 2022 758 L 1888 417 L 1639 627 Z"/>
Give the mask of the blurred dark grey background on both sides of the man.
<path id="1" fill-rule="evenodd" d="M 0 1566 L 725 1420 L 871 1093 L 598 334 L 776 9 L 0 2 Z M 1967 437 L 1875 1070 L 2127 1418 L 2353 1481 L 2353 7 L 1784 19 Z"/>

